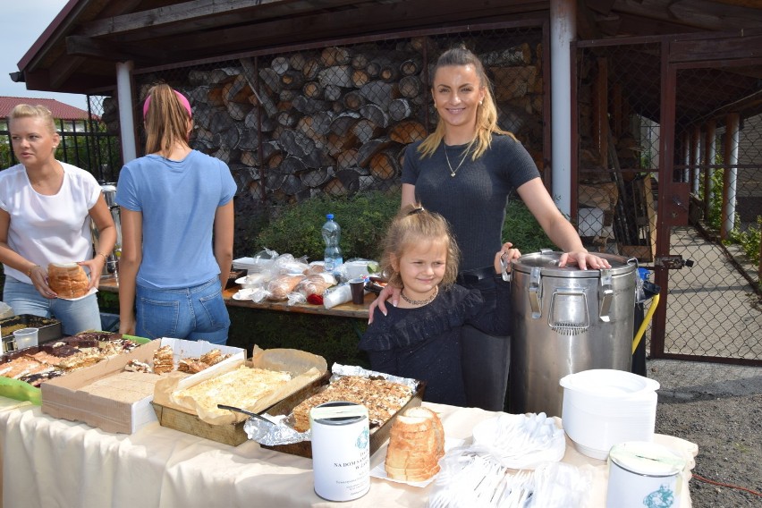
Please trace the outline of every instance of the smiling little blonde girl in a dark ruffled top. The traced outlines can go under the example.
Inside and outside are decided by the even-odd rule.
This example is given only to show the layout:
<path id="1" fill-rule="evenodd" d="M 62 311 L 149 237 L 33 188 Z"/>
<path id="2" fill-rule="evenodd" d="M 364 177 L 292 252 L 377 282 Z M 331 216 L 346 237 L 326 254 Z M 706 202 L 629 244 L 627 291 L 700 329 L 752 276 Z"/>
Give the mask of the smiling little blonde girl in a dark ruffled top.
<path id="1" fill-rule="evenodd" d="M 402 287 L 402 299 L 387 315 L 375 309 L 360 340 L 371 368 L 426 381 L 425 401 L 465 405 L 461 327 L 511 333 L 510 284 L 500 275 L 501 256 L 509 263 L 521 256 L 511 247 L 505 243 L 495 254 L 497 305 L 490 310 L 478 290 L 454 284 L 460 252 L 445 219 L 422 207 L 403 207 L 386 232 L 381 258 L 388 284 Z"/>

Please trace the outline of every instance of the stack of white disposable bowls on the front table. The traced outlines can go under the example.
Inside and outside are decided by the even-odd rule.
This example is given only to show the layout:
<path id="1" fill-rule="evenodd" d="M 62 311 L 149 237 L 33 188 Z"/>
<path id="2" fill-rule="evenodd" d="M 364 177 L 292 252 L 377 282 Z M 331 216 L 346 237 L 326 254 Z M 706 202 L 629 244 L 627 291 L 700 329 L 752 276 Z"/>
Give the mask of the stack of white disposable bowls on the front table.
<path id="1" fill-rule="evenodd" d="M 578 452 L 605 460 L 625 441 L 651 441 L 659 383 L 631 372 L 583 370 L 561 379 L 563 430 Z"/>

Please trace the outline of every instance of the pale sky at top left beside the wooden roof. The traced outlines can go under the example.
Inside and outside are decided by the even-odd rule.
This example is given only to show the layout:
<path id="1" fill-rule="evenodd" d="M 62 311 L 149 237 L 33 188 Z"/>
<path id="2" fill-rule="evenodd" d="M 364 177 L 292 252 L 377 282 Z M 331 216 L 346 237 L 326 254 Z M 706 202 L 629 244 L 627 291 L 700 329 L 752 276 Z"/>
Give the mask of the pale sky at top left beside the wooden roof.
<path id="1" fill-rule="evenodd" d="M 68 0 L 0 0 L 0 96 L 55 98 L 70 106 L 87 109 L 87 98 L 28 90 L 25 83 L 14 83 L 8 75 L 19 70 L 18 63 L 34 45 L 47 25 L 61 12 Z"/>

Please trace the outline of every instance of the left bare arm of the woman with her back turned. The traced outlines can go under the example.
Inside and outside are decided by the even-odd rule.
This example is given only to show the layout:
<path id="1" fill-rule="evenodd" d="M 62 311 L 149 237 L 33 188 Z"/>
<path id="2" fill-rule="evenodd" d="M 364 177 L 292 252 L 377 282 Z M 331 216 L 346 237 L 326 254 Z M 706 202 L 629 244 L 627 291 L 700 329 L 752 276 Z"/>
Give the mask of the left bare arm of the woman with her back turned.
<path id="1" fill-rule="evenodd" d="M 143 260 L 143 214 L 121 207 L 122 256 L 119 258 L 119 333 L 135 334 L 135 279 Z"/>

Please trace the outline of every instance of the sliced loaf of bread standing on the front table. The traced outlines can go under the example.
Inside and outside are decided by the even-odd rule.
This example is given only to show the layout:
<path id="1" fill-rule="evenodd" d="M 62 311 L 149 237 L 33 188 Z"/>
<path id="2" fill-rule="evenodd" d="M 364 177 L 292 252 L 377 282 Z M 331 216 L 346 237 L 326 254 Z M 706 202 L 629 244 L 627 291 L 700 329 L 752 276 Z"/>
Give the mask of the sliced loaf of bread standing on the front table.
<path id="1" fill-rule="evenodd" d="M 439 472 L 445 455 L 445 429 L 434 411 L 408 408 L 397 415 L 389 433 L 386 476 L 402 481 L 425 481 Z"/>

